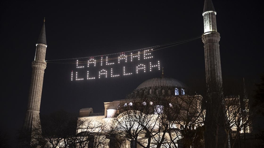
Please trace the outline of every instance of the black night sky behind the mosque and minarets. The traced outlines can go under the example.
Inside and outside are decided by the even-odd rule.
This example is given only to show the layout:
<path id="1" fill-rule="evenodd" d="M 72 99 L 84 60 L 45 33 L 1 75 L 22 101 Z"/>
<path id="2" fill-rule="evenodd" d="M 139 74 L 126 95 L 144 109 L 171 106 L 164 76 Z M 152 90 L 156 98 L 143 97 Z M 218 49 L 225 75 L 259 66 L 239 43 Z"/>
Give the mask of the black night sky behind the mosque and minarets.
<path id="1" fill-rule="evenodd" d="M 213 1 L 223 81 L 259 83 L 263 72 L 263 2 Z M 204 1 L 1 1 L 1 130 L 21 128 L 31 62 L 46 17 L 46 60 L 106 55 L 201 36 Z M 158 51 L 165 76 L 205 85 L 201 39 Z M 262 46 L 261 46 L 262 45 Z M 84 59 L 86 60 L 86 59 Z M 67 61 L 65 61 L 67 62 Z M 70 81 L 76 65 L 47 63 L 41 114 L 104 109 L 161 72 L 118 79 Z"/>

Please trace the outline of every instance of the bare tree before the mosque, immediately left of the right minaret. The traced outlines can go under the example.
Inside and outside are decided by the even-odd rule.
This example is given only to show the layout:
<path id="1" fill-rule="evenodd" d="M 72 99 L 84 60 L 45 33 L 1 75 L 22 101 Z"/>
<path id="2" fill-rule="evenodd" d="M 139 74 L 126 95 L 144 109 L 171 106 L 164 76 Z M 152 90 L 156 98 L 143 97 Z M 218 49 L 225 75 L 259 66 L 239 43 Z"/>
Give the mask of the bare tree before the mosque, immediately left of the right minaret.
<path id="1" fill-rule="evenodd" d="M 153 97 L 156 104 L 163 106 L 161 125 L 166 132 L 163 142 L 167 147 L 203 146 L 203 124 L 205 111 L 202 96 L 177 95 Z M 198 130 L 199 129 L 199 130 Z"/>

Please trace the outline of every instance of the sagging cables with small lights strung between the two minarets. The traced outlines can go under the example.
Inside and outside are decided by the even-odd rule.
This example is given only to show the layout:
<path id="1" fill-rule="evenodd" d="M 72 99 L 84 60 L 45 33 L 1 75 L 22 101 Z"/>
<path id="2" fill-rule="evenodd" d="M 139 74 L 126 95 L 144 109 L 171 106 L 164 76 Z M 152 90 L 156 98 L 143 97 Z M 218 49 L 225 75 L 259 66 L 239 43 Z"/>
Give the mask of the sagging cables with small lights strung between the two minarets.
<path id="1" fill-rule="evenodd" d="M 174 42 L 170 42 L 170 43 L 166 43 L 166 44 L 161 44 L 161 45 L 157 45 L 157 46 L 152 46 L 152 47 L 147 47 L 147 48 L 142 48 L 142 49 L 137 49 L 137 50 L 131 50 L 131 51 L 125 51 L 125 52 L 119 52 L 119 53 L 113 53 L 113 54 L 108 54 L 108 55 L 97 55 L 97 56 L 90 56 L 90 57 L 81 57 L 81 58 L 67 58 L 67 59 L 57 59 L 57 60 L 46 60 L 46 63 L 55 63 L 55 64 L 76 64 L 76 61 L 74 62 L 65 62 L 66 60 L 77 60 L 79 64 L 85 64 L 85 63 L 97 63 L 97 62 L 108 62 L 111 60 L 116 60 L 116 59 L 124 59 L 127 61 L 127 57 L 135 57 L 135 56 L 139 56 L 141 54 L 144 54 L 144 56 L 146 55 L 146 53 L 148 52 L 152 52 L 152 51 L 157 51 L 157 50 L 161 50 L 161 49 L 165 49 L 165 48 L 170 48 L 179 44 L 183 44 L 183 43 L 187 43 L 190 41 L 194 41 L 196 39 L 201 38 L 201 36 L 198 37 L 192 37 L 189 39 L 185 39 L 185 40 L 180 40 L 180 41 L 174 41 Z M 168 46 L 171 45 L 171 46 Z M 164 47 L 167 46 L 167 47 Z M 163 47 L 163 48 L 160 48 Z M 134 54 L 130 54 L 130 55 L 125 55 L 128 52 L 137 52 Z M 119 57 L 115 57 L 115 58 L 108 58 L 107 56 L 109 55 L 120 55 Z M 102 57 L 105 57 L 106 59 L 103 59 Z M 96 57 L 101 57 L 100 60 L 95 60 L 94 58 Z M 79 61 L 78 59 L 86 59 L 86 58 L 90 58 L 90 61 Z M 61 61 L 61 62 L 60 62 Z M 108 63 L 108 64 L 112 64 L 112 63 Z"/>

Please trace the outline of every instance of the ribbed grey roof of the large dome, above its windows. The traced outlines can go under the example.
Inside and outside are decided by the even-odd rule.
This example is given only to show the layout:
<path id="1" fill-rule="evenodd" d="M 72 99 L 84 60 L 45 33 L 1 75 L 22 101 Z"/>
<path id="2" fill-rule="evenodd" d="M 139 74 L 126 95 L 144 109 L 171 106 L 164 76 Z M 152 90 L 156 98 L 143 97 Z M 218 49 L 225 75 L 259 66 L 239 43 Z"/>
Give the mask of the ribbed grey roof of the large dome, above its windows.
<path id="1" fill-rule="evenodd" d="M 181 81 L 173 78 L 167 77 L 159 77 L 148 79 L 145 82 L 141 83 L 136 90 L 146 87 L 154 87 L 154 86 L 168 86 L 168 87 L 177 87 L 177 88 L 186 88 L 186 85 Z"/>

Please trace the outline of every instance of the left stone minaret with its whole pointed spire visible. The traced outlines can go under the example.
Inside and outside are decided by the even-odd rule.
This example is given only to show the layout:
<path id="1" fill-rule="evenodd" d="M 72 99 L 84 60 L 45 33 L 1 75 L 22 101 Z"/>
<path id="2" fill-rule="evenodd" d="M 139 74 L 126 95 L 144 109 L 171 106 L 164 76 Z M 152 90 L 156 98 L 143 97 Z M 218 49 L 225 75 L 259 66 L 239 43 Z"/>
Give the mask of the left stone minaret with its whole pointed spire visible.
<path id="1" fill-rule="evenodd" d="M 24 130 L 31 132 L 39 120 L 40 100 L 42 94 L 44 70 L 46 69 L 46 32 L 45 18 L 36 44 L 35 60 L 32 62 L 31 84 L 28 97 L 28 108 L 24 121 Z"/>

